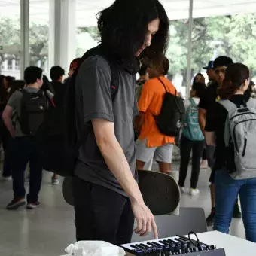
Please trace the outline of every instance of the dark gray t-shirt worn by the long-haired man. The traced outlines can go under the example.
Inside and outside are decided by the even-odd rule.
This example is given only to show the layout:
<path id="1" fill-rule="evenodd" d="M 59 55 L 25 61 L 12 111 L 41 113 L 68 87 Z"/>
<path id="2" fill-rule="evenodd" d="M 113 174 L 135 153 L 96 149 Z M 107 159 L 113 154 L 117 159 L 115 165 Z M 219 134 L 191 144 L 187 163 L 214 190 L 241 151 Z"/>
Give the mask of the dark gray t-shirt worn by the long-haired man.
<path id="1" fill-rule="evenodd" d="M 111 99 L 111 69 L 102 56 L 88 58 L 78 72 L 75 84 L 78 111 L 78 136 L 81 127 L 93 119 L 105 119 L 114 123 L 117 141 L 126 156 L 133 176 L 136 177 L 136 150 L 133 117 L 139 114 L 136 102 L 136 79 L 119 70 L 120 84 L 114 102 Z M 85 181 L 107 187 L 126 196 L 119 182 L 105 163 L 96 145 L 93 130 L 82 145 L 75 175 Z"/>

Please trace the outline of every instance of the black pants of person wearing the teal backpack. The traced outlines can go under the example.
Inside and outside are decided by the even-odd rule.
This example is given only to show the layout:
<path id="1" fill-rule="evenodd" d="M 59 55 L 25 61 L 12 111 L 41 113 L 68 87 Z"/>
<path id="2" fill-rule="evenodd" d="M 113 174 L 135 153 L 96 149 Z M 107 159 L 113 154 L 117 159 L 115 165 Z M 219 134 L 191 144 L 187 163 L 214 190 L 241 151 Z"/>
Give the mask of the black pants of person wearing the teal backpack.
<path id="1" fill-rule="evenodd" d="M 187 168 L 192 150 L 192 173 L 190 187 L 197 188 L 197 182 L 200 174 L 200 160 L 203 154 L 205 141 L 190 141 L 185 136 L 181 136 L 181 166 L 179 171 L 178 184 L 184 187 L 184 182 L 187 178 Z"/>

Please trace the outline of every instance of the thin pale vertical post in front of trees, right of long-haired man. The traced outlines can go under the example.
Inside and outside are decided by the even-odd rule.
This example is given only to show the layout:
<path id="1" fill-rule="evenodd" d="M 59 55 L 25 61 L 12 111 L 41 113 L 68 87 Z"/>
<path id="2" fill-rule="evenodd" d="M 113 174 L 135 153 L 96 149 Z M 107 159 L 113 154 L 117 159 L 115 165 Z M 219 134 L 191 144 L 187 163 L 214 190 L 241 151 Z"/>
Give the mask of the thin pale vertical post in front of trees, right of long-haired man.
<path id="1" fill-rule="evenodd" d="M 190 0 L 188 39 L 187 39 L 187 90 L 186 90 L 187 99 L 190 96 L 190 86 L 191 86 L 192 29 L 193 29 L 193 0 Z"/>

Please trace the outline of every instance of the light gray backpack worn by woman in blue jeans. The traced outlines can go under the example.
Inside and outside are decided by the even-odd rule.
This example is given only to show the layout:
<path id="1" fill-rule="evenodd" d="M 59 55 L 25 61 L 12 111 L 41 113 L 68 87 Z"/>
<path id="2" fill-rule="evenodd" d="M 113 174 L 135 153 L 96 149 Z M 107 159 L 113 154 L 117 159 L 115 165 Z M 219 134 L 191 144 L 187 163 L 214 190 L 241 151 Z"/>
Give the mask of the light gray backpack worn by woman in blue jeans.
<path id="1" fill-rule="evenodd" d="M 239 108 L 230 100 L 218 102 L 228 111 L 225 124 L 226 164 L 234 179 L 256 177 L 256 99 Z"/>

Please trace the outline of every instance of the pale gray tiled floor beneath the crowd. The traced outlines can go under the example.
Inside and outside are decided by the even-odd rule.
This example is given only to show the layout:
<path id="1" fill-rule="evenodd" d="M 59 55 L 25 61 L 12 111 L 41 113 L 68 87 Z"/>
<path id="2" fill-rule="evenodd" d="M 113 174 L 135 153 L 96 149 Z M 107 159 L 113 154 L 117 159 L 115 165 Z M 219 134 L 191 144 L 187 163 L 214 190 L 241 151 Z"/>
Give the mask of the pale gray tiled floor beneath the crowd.
<path id="1" fill-rule="evenodd" d="M 173 169 L 177 169 L 174 166 Z M 181 206 L 203 207 L 210 211 L 209 171 L 200 175 L 200 195 L 182 195 Z M 187 179 L 188 181 L 188 179 Z M 188 184 L 188 182 L 187 182 Z M 62 198 L 62 186 L 50 184 L 50 174 L 44 173 L 41 206 L 27 211 L 8 212 L 5 206 L 12 199 L 11 182 L 0 183 L 0 255 L 1 256 L 58 256 L 75 242 L 74 212 Z M 231 234 L 244 237 L 242 220 L 233 220 Z"/>

